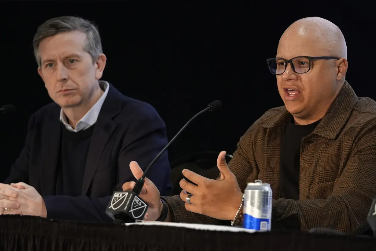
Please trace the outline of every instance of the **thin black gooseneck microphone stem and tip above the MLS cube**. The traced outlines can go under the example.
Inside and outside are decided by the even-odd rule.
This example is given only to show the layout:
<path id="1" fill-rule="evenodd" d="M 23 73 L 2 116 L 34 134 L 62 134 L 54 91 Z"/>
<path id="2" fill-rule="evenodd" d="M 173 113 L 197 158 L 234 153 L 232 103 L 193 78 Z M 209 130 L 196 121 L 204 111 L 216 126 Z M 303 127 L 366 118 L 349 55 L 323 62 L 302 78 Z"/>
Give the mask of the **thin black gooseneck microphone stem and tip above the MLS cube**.
<path id="1" fill-rule="evenodd" d="M 167 143 L 167 145 L 162 149 L 161 152 L 159 152 L 159 154 L 157 154 L 157 156 L 155 156 L 155 158 L 150 162 L 149 166 L 146 167 L 145 169 L 145 172 L 143 174 L 143 176 L 141 178 L 138 179 L 138 181 L 136 182 L 135 186 L 133 187 L 133 190 L 132 192 L 135 192 L 137 193 L 138 195 L 140 194 L 143 186 L 144 186 L 144 183 L 145 183 L 145 177 L 146 177 L 146 173 L 147 171 L 150 169 L 150 167 L 155 163 L 155 161 L 158 160 L 159 157 L 161 157 L 161 155 L 167 150 L 168 146 L 171 145 L 172 142 L 174 142 L 174 140 L 177 138 L 177 136 L 180 135 L 180 133 L 194 120 L 196 119 L 198 116 L 200 116 L 201 114 L 207 112 L 207 111 L 217 111 L 221 108 L 222 106 L 222 103 L 221 101 L 219 100 L 215 100 L 211 103 L 209 103 L 208 107 L 206 107 L 204 110 L 200 111 L 199 113 L 197 113 L 195 116 L 193 116 L 190 120 L 188 120 L 188 122 L 185 123 L 185 125 L 175 134 L 175 136 L 170 140 L 170 142 Z"/>

